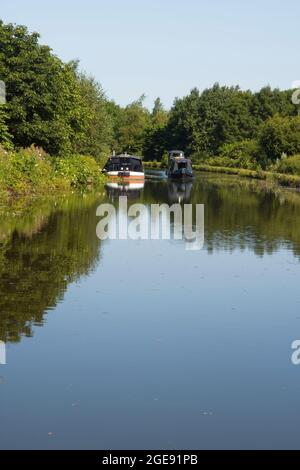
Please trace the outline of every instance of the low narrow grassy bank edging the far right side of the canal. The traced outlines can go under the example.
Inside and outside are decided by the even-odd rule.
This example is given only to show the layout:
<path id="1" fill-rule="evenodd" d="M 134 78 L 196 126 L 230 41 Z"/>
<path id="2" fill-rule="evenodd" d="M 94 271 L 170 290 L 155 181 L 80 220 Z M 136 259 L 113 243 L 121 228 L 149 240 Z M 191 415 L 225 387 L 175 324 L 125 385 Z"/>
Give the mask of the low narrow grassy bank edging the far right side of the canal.
<path id="1" fill-rule="evenodd" d="M 163 168 L 161 162 L 143 162 L 145 168 Z M 284 173 L 277 173 L 273 171 L 263 171 L 263 170 L 247 170 L 245 168 L 229 168 L 224 166 L 212 166 L 204 164 L 194 164 L 194 170 L 196 171 L 208 171 L 212 173 L 224 173 L 227 175 L 237 175 L 247 178 L 254 178 L 264 181 L 273 181 L 282 186 L 287 186 L 290 188 L 300 188 L 300 176 L 297 175 L 288 175 Z"/>

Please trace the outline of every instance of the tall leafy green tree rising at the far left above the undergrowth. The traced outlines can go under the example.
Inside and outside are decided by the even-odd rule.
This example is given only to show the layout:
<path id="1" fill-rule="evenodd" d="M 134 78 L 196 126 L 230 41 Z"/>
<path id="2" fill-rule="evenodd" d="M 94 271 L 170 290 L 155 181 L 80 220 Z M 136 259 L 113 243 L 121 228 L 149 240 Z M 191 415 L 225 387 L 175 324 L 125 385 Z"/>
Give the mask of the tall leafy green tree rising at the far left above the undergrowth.
<path id="1" fill-rule="evenodd" d="M 73 150 L 86 130 L 88 110 L 72 67 L 39 35 L 0 21 L 0 77 L 6 84 L 7 125 L 17 146 L 42 146 L 49 153 Z"/>

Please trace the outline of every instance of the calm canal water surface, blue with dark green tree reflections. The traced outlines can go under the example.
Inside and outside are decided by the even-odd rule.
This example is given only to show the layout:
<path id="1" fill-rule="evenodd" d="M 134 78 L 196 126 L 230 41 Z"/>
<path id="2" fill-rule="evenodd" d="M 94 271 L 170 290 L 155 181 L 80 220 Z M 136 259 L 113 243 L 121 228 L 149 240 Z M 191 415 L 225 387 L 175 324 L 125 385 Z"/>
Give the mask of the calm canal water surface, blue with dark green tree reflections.
<path id="1" fill-rule="evenodd" d="M 0 448 L 300 448 L 300 194 L 217 175 L 126 192 L 203 203 L 187 251 L 98 240 L 118 191 L 1 217 Z"/>

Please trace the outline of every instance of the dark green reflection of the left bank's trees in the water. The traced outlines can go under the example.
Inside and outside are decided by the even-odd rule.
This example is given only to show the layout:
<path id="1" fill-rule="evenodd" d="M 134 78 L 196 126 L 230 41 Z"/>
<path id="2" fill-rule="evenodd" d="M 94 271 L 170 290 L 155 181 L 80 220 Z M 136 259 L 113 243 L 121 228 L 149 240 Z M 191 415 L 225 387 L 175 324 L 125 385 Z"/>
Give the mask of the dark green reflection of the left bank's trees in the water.
<path id="1" fill-rule="evenodd" d="M 42 325 L 45 311 L 63 299 L 70 282 L 99 261 L 96 196 L 50 200 L 23 218 L 1 220 L 0 339 L 19 341 Z"/>

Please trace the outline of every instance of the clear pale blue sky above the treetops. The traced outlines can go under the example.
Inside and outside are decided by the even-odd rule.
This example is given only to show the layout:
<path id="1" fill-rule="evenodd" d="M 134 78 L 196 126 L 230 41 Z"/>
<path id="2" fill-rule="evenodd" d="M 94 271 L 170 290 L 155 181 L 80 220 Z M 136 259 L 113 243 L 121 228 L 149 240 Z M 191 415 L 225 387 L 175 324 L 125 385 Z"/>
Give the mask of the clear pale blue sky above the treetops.
<path id="1" fill-rule="evenodd" d="M 300 79 L 298 0 L 1 0 L 5 22 L 41 34 L 63 60 L 78 58 L 124 105 L 218 81 L 257 90 Z"/>

